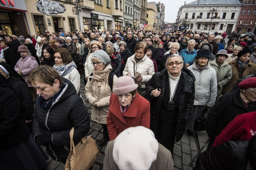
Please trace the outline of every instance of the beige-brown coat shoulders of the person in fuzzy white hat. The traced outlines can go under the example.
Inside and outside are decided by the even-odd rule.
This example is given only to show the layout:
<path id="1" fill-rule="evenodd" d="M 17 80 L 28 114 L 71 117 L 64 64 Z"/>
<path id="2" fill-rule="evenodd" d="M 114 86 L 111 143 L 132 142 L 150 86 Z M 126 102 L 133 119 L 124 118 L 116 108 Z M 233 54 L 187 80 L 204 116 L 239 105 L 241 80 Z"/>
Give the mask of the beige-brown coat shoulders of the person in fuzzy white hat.
<path id="1" fill-rule="evenodd" d="M 149 170 L 173 170 L 173 160 L 171 152 L 158 143 L 157 160 L 154 161 Z M 103 170 L 119 170 L 113 158 L 114 140 L 108 142 L 105 149 Z"/>

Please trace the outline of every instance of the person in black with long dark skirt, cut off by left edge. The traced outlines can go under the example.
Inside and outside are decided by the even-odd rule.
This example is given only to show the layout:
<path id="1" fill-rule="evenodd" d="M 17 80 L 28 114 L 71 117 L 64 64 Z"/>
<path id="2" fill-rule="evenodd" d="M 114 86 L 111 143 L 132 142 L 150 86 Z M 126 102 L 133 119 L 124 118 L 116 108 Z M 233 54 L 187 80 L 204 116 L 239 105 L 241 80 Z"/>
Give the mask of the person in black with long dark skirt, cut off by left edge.
<path id="1" fill-rule="evenodd" d="M 15 93 L 13 86 L 0 74 L 1 169 L 46 169 L 48 157 L 38 148 L 20 116 L 22 105 Z"/>

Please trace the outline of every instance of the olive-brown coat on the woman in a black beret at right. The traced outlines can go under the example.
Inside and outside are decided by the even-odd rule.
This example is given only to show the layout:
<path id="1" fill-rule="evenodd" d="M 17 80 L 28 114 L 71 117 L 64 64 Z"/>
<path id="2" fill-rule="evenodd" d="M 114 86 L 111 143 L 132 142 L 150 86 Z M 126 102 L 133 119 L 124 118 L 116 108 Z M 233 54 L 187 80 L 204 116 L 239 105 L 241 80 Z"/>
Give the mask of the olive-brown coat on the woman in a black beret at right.
<path id="1" fill-rule="evenodd" d="M 241 74 L 241 68 L 237 64 L 237 59 L 233 60 L 232 62 L 228 63 L 232 67 L 232 78 L 230 81 L 223 87 L 222 94 L 230 93 L 236 82 L 239 80 L 239 75 Z M 239 69 L 239 75 L 238 75 L 238 69 Z M 256 65 L 252 62 L 249 62 L 247 65 L 242 67 L 242 70 L 244 70 L 242 77 L 248 76 L 252 73 L 256 72 Z"/>

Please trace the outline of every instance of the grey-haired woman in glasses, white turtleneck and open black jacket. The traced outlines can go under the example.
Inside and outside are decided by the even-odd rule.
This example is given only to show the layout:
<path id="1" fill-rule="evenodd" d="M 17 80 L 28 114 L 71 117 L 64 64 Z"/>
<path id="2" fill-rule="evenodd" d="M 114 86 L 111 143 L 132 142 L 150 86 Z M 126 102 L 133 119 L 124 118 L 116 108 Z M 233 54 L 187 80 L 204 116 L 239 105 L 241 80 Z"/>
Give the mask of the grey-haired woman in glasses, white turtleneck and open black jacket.
<path id="1" fill-rule="evenodd" d="M 152 98 L 150 129 L 159 143 L 173 153 L 174 142 L 183 136 L 194 103 L 195 77 L 183 68 L 181 55 L 172 54 L 166 68 L 155 73 L 146 83 Z"/>

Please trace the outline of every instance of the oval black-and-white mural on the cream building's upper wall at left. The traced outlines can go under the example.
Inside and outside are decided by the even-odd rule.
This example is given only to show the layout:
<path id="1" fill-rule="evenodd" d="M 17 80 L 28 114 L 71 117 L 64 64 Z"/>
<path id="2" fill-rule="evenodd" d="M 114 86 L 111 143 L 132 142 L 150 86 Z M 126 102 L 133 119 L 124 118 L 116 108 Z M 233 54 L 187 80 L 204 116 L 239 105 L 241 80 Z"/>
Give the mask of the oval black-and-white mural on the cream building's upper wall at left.
<path id="1" fill-rule="evenodd" d="M 66 11 L 66 7 L 59 4 L 58 1 L 39 0 L 35 6 L 39 12 L 45 13 L 47 16 L 50 16 L 50 14 L 57 15 L 58 13 L 64 13 Z"/>

